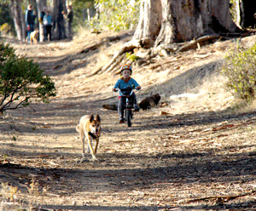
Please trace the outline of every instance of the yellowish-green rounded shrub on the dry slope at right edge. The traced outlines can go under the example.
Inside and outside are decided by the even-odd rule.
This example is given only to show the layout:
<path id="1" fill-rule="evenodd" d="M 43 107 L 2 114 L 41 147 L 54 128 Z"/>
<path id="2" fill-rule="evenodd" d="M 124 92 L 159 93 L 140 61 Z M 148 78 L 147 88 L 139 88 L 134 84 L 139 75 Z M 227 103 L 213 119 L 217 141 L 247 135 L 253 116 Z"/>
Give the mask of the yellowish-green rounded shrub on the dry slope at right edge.
<path id="1" fill-rule="evenodd" d="M 256 96 L 256 44 L 252 48 L 241 48 L 230 52 L 226 56 L 224 76 L 228 78 L 226 88 L 236 98 L 253 100 Z"/>

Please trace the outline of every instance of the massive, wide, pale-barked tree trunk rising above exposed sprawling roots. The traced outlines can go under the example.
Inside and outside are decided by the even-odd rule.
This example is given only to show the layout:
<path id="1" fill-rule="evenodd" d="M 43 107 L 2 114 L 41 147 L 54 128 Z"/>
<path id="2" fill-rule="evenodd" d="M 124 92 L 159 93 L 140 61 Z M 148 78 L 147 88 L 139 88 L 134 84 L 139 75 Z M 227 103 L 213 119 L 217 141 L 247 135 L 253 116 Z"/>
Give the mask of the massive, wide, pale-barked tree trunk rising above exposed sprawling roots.
<path id="1" fill-rule="evenodd" d="M 133 38 L 150 48 L 237 30 L 229 0 L 144 0 Z"/>

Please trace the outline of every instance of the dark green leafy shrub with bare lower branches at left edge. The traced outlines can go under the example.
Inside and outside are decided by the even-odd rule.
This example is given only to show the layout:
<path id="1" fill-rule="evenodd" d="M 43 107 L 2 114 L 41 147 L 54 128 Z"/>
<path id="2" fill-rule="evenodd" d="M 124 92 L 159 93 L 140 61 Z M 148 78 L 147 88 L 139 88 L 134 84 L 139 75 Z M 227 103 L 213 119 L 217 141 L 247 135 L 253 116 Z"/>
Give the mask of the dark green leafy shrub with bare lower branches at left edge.
<path id="1" fill-rule="evenodd" d="M 0 43 L 0 114 L 28 106 L 32 99 L 49 102 L 55 96 L 55 83 L 43 72 L 33 60 Z"/>

